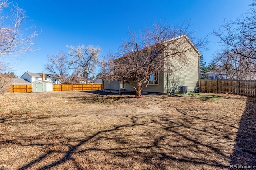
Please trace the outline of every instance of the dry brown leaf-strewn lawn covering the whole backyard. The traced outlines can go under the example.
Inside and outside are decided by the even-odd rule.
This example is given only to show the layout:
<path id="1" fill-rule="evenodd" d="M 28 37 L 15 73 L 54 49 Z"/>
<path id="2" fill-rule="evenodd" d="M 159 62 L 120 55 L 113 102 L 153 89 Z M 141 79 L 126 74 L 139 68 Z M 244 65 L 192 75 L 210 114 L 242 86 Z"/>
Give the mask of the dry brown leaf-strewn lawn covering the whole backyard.
<path id="1" fill-rule="evenodd" d="M 227 169 L 256 164 L 256 98 L 99 91 L 0 97 L 0 169 Z"/>

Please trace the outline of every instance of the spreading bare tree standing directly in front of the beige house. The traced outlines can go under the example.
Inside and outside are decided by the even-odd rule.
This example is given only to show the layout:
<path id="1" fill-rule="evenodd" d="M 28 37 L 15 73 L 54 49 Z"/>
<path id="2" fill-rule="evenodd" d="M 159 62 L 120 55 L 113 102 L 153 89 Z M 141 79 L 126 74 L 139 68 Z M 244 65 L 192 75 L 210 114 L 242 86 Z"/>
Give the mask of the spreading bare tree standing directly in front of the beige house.
<path id="1" fill-rule="evenodd" d="M 175 62 L 186 65 L 188 54 L 194 52 L 194 46 L 185 33 L 189 24 L 171 27 L 167 23 L 156 22 L 140 34 L 130 32 L 131 39 L 125 41 L 118 53 L 108 53 L 107 61 L 102 63 L 102 71 L 108 71 L 109 79 L 120 79 L 132 86 L 137 96 L 149 83 L 158 81 L 158 72 L 174 72 L 178 70 Z M 206 41 L 198 41 L 203 45 Z M 136 85 L 132 82 L 136 81 Z"/>

